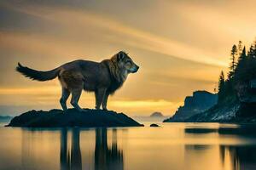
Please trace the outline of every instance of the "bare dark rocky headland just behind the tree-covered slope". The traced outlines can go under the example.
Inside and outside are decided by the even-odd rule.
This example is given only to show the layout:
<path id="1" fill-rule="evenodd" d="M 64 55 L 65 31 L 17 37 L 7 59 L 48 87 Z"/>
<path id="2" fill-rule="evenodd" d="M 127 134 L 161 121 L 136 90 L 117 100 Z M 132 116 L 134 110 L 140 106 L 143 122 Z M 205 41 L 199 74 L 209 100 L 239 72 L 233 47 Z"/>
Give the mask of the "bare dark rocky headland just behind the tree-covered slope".
<path id="1" fill-rule="evenodd" d="M 175 114 L 164 122 L 183 122 L 190 116 L 207 111 L 218 102 L 218 95 L 207 91 L 195 91 L 192 96 L 187 96 L 184 105 L 180 106 Z"/>

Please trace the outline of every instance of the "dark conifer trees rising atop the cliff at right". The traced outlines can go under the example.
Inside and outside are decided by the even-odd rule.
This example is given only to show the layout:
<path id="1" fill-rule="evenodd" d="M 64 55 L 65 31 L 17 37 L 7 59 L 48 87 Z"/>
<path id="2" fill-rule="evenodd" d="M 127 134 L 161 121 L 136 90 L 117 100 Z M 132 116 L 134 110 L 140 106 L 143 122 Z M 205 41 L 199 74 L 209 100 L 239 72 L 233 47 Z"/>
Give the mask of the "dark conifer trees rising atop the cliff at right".
<path id="1" fill-rule="evenodd" d="M 227 78 L 221 71 L 218 79 L 218 104 L 238 101 L 247 94 L 252 80 L 256 78 L 256 40 L 248 50 L 241 41 L 234 44 L 230 60 Z"/>

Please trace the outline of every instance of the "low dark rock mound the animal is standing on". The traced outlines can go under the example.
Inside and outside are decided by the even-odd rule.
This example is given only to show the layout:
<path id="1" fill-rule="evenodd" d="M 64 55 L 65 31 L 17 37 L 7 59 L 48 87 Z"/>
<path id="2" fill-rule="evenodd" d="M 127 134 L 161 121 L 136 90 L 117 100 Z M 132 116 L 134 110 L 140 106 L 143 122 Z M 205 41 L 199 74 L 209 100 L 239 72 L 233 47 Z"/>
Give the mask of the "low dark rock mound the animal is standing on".
<path id="1" fill-rule="evenodd" d="M 140 124 L 124 113 L 84 109 L 51 111 L 27 111 L 15 116 L 9 127 L 140 127 Z"/>

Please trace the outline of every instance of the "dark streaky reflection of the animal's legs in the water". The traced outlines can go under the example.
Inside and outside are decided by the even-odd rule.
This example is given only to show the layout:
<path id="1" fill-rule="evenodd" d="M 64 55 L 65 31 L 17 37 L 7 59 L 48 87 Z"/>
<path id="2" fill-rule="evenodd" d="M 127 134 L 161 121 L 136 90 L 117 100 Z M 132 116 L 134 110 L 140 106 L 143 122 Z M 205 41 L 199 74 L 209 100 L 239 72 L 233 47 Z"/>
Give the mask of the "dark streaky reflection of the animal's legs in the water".
<path id="1" fill-rule="evenodd" d="M 106 128 L 96 129 L 95 170 L 124 169 L 123 152 L 117 146 L 117 134 L 113 129 L 111 149 L 108 148 L 108 132 Z M 82 154 L 80 150 L 80 130 L 73 128 L 71 150 L 67 149 L 67 129 L 61 130 L 61 170 L 82 169 Z"/>

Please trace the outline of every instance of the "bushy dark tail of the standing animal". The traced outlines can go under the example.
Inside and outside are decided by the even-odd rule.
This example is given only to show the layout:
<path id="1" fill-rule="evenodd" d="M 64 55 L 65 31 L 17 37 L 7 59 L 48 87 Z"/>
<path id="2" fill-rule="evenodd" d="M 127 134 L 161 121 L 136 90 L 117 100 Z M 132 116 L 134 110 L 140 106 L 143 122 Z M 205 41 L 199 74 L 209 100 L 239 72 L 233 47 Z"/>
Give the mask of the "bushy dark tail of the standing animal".
<path id="1" fill-rule="evenodd" d="M 16 67 L 16 71 L 20 72 L 25 77 L 29 77 L 32 80 L 38 80 L 38 81 L 44 82 L 44 81 L 52 80 L 55 77 L 57 77 L 60 71 L 60 67 L 55 68 L 54 70 L 51 70 L 51 71 L 35 71 L 33 69 L 20 65 L 20 63 L 18 63 L 18 66 Z"/>

